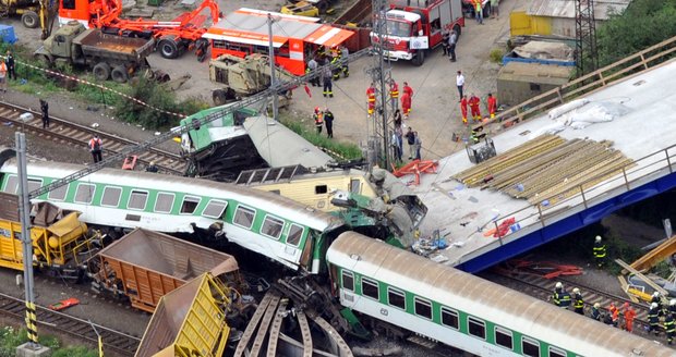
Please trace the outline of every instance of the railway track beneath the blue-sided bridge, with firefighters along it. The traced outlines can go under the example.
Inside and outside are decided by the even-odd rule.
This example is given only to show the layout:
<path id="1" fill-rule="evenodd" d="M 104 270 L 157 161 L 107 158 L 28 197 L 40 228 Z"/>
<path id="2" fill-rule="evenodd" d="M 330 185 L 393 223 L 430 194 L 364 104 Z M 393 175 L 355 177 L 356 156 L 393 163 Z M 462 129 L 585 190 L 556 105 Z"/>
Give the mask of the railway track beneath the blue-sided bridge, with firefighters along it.
<path id="1" fill-rule="evenodd" d="M 500 285 L 510 286 L 527 295 L 540 298 L 542 300 L 548 300 L 548 298 L 554 292 L 556 282 L 562 282 L 569 293 L 572 292 L 572 287 L 579 287 L 584 298 L 584 312 L 588 317 L 590 315 L 589 311 L 591 311 L 591 307 L 595 303 L 599 303 L 601 305 L 601 308 L 603 309 L 602 311 L 605 313 L 607 313 L 606 308 L 611 305 L 611 303 L 615 303 L 615 305 L 620 309 L 625 303 L 629 303 L 629 305 L 631 305 L 631 307 L 636 310 L 636 319 L 633 320 L 633 334 L 648 338 L 654 337 L 645 332 L 649 327 L 648 305 L 636 304 L 628 298 L 608 294 L 596 288 L 586 286 L 570 280 L 566 280 L 565 278 L 560 276 L 556 280 L 550 280 L 538 276 L 535 274 L 507 272 L 504 270 L 494 269 L 491 272 L 486 272 L 485 274 L 483 274 L 483 278 Z M 663 334 L 661 334 L 660 337 L 665 338 Z"/>

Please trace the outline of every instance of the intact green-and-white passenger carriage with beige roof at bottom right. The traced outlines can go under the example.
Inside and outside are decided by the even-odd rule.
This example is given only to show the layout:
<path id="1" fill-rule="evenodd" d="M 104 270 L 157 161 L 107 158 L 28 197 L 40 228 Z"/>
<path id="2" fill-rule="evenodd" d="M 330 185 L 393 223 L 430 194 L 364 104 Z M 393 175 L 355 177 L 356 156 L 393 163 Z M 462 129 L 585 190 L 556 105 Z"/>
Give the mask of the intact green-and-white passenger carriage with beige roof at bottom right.
<path id="1" fill-rule="evenodd" d="M 345 307 L 478 356 L 675 356 L 672 348 L 354 232 L 329 247 Z"/>

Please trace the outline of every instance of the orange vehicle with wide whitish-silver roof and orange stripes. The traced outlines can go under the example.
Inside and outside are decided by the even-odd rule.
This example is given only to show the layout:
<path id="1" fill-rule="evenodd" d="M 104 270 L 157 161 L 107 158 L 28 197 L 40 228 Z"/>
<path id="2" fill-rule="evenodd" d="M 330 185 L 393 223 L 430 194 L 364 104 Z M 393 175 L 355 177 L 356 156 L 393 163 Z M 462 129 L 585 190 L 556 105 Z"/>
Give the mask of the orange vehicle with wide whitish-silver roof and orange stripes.
<path id="1" fill-rule="evenodd" d="M 305 73 L 305 63 L 317 49 L 338 48 L 354 34 L 349 29 L 321 24 L 318 17 L 242 8 L 226 15 L 202 36 L 212 41 L 212 58 L 221 54 L 240 58 L 250 53 L 268 54 L 268 14 L 274 17 L 275 61 L 294 75 Z"/>

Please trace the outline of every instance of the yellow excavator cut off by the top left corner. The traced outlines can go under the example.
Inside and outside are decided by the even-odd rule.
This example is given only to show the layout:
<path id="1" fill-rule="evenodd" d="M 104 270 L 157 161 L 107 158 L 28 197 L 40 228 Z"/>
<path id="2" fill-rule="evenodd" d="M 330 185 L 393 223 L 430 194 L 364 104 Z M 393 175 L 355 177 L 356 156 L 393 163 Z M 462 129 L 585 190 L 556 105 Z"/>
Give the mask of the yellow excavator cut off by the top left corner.
<path id="1" fill-rule="evenodd" d="M 43 29 L 43 39 L 51 34 L 59 2 L 56 0 L 0 0 L 0 17 L 21 15 L 28 28 Z"/>

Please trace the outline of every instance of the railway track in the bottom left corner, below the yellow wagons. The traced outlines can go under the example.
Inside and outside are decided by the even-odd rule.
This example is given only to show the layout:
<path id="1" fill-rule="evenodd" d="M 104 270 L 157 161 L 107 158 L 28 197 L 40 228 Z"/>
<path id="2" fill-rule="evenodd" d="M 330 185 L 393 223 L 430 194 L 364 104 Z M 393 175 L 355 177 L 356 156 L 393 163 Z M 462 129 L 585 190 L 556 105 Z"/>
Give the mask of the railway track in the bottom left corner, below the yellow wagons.
<path id="1" fill-rule="evenodd" d="M 92 323 L 59 311 L 53 311 L 39 305 L 36 307 L 37 323 L 39 325 L 55 329 L 94 345 L 98 344 L 98 333 L 104 341 L 105 352 L 114 352 L 121 356 L 134 356 L 141 343 L 141 338 L 126 333 L 108 329 L 100 324 Z M 24 300 L 10 295 L 0 294 L 0 313 L 23 320 L 26 313 Z"/>

